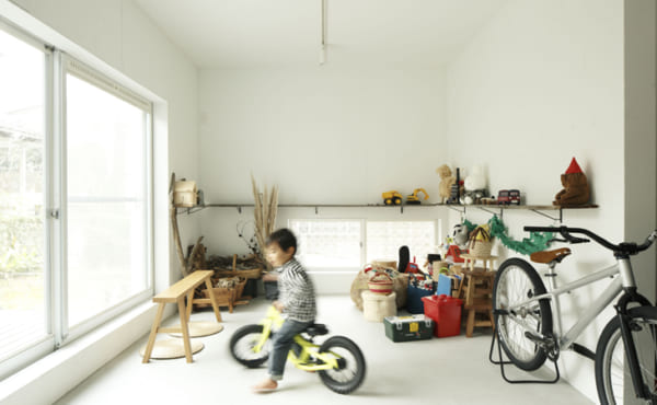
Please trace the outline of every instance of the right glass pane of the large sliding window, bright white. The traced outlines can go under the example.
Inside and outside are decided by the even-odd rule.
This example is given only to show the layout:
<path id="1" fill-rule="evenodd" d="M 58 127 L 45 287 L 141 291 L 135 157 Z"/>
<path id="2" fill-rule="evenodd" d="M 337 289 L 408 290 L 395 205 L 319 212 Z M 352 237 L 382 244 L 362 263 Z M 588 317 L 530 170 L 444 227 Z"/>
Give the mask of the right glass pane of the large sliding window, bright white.
<path id="1" fill-rule="evenodd" d="M 76 66 L 66 76 L 69 326 L 149 286 L 149 114 Z"/>

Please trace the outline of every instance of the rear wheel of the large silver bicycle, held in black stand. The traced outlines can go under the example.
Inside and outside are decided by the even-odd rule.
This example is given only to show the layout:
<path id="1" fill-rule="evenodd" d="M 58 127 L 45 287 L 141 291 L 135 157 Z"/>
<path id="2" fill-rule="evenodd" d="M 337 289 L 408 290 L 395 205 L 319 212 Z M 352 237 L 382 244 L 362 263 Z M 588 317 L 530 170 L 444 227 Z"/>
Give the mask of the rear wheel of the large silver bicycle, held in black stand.
<path id="1" fill-rule="evenodd" d="M 548 354 L 526 332 L 552 334 L 550 301 L 531 301 L 545 293 L 545 286 L 537 270 L 520 258 L 509 258 L 497 269 L 493 286 L 493 310 L 496 333 L 504 352 L 518 368 L 532 371 L 545 362 Z"/>

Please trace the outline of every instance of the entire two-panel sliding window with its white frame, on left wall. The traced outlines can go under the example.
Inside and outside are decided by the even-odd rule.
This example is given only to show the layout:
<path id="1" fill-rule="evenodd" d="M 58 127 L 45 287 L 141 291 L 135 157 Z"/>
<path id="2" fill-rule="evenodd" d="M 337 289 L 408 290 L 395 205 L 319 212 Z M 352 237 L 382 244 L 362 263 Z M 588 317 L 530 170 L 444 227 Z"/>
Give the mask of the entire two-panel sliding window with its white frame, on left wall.
<path id="1" fill-rule="evenodd" d="M 152 294 L 151 104 L 0 23 L 0 378 Z"/>

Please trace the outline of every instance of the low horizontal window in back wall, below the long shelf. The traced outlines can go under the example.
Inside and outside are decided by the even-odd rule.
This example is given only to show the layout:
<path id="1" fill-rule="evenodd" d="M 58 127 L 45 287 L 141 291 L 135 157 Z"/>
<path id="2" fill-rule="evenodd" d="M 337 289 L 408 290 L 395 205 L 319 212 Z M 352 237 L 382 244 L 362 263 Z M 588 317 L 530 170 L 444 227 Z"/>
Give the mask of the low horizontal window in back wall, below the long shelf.
<path id="1" fill-rule="evenodd" d="M 436 221 L 367 221 L 293 219 L 299 259 L 311 270 L 358 268 L 376 259 L 399 258 L 408 246 L 419 265 L 437 253 Z"/>

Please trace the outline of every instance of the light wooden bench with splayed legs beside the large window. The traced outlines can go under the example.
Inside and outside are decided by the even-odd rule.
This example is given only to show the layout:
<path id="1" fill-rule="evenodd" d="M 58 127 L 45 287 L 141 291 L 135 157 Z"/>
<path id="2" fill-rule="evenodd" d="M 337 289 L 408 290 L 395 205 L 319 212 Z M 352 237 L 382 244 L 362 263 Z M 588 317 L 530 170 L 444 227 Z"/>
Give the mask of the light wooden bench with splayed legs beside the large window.
<path id="1" fill-rule="evenodd" d="M 196 287 L 205 282 L 206 288 L 211 291 L 212 282 L 210 281 L 210 277 L 214 275 L 214 273 L 215 271 L 212 270 L 196 270 L 182 280 L 175 282 L 166 290 L 153 297 L 153 302 L 159 304 L 158 313 L 155 315 L 155 320 L 153 321 L 153 326 L 151 327 L 148 344 L 146 345 L 146 350 L 143 352 L 143 359 L 141 362 L 148 362 L 150 360 L 158 333 L 182 333 L 183 345 L 185 346 L 185 358 L 187 359 L 187 362 L 193 361 L 192 346 L 189 345 L 188 321 L 189 316 L 192 315 L 192 306 L 194 303 L 194 290 Z M 185 298 L 187 298 L 187 306 L 185 306 Z M 215 300 L 215 294 L 210 294 L 210 302 L 212 303 L 212 310 L 215 311 L 215 317 L 217 319 L 217 322 L 221 322 L 221 312 L 219 312 L 219 306 Z M 177 303 L 178 314 L 181 317 L 180 327 L 160 326 L 160 322 L 162 322 L 162 314 L 164 313 L 164 306 L 168 303 Z"/>

